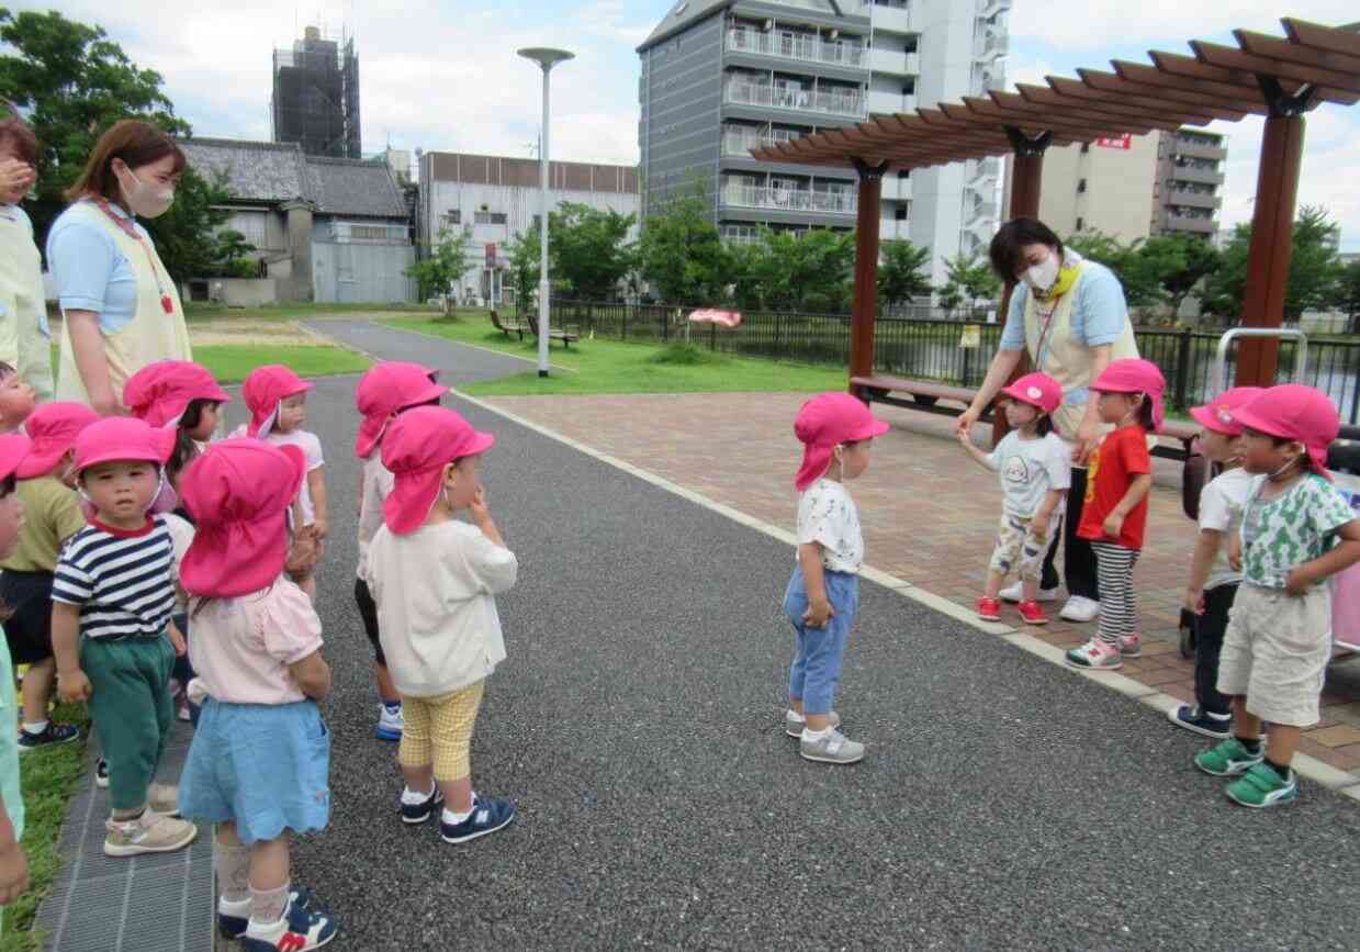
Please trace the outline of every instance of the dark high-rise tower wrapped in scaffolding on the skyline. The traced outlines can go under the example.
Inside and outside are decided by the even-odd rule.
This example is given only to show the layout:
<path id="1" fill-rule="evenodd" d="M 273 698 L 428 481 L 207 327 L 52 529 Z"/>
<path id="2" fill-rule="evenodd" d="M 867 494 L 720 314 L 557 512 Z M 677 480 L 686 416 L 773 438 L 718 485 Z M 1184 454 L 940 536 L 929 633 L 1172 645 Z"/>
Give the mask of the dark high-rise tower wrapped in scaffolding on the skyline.
<path id="1" fill-rule="evenodd" d="M 354 38 L 326 39 L 309 26 L 292 49 L 276 49 L 271 113 L 276 143 L 298 143 L 307 155 L 362 158 Z"/>

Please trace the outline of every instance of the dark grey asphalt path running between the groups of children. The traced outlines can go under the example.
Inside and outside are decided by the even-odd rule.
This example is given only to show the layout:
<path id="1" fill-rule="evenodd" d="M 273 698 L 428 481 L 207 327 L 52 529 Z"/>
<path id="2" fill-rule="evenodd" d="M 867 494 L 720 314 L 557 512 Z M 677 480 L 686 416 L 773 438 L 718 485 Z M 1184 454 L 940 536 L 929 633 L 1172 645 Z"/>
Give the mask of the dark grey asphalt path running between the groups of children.
<path id="1" fill-rule="evenodd" d="M 449 341 L 318 329 L 453 385 L 506 373 Z M 877 585 L 836 702 L 868 758 L 801 760 L 782 729 L 793 554 L 453 397 L 498 437 L 484 481 L 520 558 L 472 756 L 476 789 L 520 816 L 464 846 L 403 826 L 351 598 L 354 382 L 309 401 L 333 526 L 333 813 L 294 850 L 337 945 L 1360 947 L 1353 802 L 1304 782 L 1291 808 L 1235 806 L 1155 711 Z"/>

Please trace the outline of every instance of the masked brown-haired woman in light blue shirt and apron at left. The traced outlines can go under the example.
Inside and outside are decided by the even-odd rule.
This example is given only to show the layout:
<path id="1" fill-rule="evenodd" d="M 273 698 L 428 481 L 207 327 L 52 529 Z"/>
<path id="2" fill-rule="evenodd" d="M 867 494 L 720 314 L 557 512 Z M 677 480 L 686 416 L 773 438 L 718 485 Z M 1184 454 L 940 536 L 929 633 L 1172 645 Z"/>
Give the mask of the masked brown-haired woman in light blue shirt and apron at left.
<path id="1" fill-rule="evenodd" d="M 57 398 L 125 413 L 129 377 L 156 360 L 190 360 L 174 280 L 136 218 L 174 201 L 184 152 L 165 132 L 124 120 L 101 136 L 71 207 L 48 234 L 48 262 L 64 316 Z"/>

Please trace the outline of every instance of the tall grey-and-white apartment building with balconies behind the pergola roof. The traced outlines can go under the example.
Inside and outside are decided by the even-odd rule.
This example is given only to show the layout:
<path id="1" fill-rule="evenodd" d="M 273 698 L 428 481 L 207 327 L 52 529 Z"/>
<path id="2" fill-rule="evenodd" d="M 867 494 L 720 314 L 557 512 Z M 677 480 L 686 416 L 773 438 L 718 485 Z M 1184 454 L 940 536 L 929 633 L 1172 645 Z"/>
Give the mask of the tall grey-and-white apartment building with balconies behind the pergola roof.
<path id="1" fill-rule="evenodd" d="M 679 0 L 638 48 L 643 215 L 700 186 L 724 238 L 853 228 L 849 169 L 756 162 L 812 132 L 1005 83 L 1010 0 Z M 997 226 L 996 159 L 892 171 L 880 237 L 933 250 L 934 272 Z"/>

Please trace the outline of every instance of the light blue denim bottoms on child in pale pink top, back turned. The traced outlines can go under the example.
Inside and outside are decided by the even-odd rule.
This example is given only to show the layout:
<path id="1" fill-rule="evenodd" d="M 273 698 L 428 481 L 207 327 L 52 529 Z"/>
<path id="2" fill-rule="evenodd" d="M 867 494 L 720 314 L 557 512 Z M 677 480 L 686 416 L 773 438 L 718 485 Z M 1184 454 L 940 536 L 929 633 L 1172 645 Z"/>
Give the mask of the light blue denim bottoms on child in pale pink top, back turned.
<path id="1" fill-rule="evenodd" d="M 242 843 L 330 819 L 330 732 L 316 702 L 230 704 L 209 698 L 180 778 L 180 812 L 237 824 Z"/>

